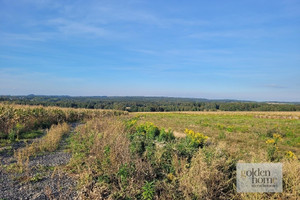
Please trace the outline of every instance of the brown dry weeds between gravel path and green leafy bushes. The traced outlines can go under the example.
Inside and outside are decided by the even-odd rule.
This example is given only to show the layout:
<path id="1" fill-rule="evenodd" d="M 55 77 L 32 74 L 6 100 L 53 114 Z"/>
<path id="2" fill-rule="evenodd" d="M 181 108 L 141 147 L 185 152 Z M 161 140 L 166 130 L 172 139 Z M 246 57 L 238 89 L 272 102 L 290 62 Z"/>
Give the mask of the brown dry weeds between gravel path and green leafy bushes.
<path id="1" fill-rule="evenodd" d="M 69 169 L 79 174 L 81 199 L 135 196 L 147 177 L 153 176 L 149 163 L 130 154 L 130 142 L 122 121 L 94 119 L 78 127 L 76 132 L 71 142 L 73 157 Z M 131 165 L 135 171 L 128 169 L 130 176 L 119 175 L 124 166 L 130 168 Z"/>

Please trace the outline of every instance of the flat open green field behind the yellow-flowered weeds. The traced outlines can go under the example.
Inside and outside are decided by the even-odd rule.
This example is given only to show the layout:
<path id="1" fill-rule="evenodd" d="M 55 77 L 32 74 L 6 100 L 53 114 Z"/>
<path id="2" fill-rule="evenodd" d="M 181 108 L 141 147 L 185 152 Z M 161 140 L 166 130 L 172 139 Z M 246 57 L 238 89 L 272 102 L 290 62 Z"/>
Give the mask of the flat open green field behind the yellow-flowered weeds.
<path id="1" fill-rule="evenodd" d="M 265 154 L 266 141 L 279 134 L 280 153 L 292 151 L 300 156 L 300 112 L 175 112 L 134 116 L 140 122 L 153 122 L 175 133 L 184 133 L 186 128 L 204 133 L 213 142 L 227 144 L 245 158 L 249 153 Z"/>

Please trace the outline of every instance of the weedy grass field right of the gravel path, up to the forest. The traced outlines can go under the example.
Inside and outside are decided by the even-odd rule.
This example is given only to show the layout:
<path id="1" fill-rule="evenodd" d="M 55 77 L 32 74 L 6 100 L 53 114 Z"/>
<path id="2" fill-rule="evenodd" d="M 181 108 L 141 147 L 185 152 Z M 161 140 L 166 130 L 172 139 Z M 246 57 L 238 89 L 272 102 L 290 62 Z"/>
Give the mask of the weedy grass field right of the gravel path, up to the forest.
<path id="1" fill-rule="evenodd" d="M 94 119 L 72 137 L 76 156 L 68 167 L 80 174 L 86 199 L 297 199 L 297 117 L 188 112 Z M 238 162 L 283 163 L 284 192 L 237 193 Z"/>

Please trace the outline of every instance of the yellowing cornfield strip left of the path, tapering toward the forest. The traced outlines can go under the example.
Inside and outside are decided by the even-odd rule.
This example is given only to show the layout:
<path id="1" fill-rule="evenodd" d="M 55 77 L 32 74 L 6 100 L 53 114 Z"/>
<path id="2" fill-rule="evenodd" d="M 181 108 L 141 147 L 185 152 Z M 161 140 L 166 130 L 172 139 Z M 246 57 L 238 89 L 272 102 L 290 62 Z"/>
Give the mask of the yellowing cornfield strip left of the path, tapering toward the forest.
<path id="1" fill-rule="evenodd" d="M 42 106 L 20 106 L 0 104 L 0 139 L 9 135 L 50 128 L 52 124 L 75 122 L 102 116 L 121 115 L 123 111 L 88 110 Z"/>

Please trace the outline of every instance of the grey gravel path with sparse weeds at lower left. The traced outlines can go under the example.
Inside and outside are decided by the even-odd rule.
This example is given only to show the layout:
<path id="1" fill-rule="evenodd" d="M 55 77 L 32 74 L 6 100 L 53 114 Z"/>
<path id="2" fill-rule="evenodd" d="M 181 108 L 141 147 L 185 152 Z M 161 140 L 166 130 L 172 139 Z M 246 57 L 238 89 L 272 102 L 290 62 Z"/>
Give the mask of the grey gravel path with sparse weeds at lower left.
<path id="1" fill-rule="evenodd" d="M 72 131 L 60 142 L 55 152 L 32 157 L 24 173 L 9 172 L 7 166 L 16 163 L 13 151 L 24 147 L 24 142 L 2 148 L 0 151 L 0 199 L 77 199 L 76 181 L 61 170 L 71 154 L 65 152 L 66 138 L 77 124 L 71 124 Z"/>

